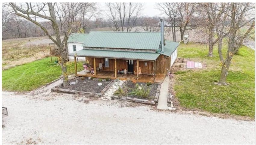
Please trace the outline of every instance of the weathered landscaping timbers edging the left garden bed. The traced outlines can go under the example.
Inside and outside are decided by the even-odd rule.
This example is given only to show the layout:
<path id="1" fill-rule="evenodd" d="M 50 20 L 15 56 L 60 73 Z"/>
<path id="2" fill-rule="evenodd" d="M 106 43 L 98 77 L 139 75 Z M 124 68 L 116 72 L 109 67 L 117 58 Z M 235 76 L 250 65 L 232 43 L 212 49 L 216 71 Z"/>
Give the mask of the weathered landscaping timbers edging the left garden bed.
<path id="1" fill-rule="evenodd" d="M 74 78 L 72 78 L 73 80 Z M 100 93 L 95 92 L 84 92 L 84 91 L 76 91 L 71 89 L 63 89 L 61 88 L 63 86 L 63 83 L 61 83 L 58 86 L 55 86 L 51 89 L 52 92 L 58 92 L 58 93 L 66 93 L 66 94 L 74 94 L 74 95 L 85 95 L 88 97 L 101 97 L 114 83 L 114 80 L 111 80 L 111 82 L 104 88 Z"/>

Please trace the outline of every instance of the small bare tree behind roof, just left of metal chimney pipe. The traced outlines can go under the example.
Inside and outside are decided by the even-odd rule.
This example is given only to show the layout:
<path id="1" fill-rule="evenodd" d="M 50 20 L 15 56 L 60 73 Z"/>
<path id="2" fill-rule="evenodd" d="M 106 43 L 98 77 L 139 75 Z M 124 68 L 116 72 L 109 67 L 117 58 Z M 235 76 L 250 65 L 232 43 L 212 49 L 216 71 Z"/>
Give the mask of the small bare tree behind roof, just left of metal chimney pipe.
<path id="1" fill-rule="evenodd" d="M 158 19 L 152 17 L 141 17 L 144 31 L 155 32 L 158 30 Z"/>

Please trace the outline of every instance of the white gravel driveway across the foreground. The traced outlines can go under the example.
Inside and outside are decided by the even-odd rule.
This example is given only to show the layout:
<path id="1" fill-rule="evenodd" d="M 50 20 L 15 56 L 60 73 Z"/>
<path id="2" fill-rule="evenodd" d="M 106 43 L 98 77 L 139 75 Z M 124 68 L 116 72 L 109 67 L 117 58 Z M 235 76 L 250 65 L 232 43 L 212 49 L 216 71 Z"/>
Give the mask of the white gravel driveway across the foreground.
<path id="1" fill-rule="evenodd" d="M 25 94 L 2 92 L 9 113 L 3 144 L 254 144 L 253 121 L 50 92 L 57 83 Z"/>

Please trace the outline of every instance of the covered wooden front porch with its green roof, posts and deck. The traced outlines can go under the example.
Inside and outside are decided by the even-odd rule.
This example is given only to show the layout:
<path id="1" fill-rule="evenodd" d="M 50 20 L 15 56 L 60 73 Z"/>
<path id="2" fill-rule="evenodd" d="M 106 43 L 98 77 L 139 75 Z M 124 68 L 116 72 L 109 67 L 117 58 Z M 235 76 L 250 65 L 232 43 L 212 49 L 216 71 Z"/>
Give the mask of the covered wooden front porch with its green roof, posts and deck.
<path id="1" fill-rule="evenodd" d="M 159 53 L 83 49 L 73 56 L 86 57 L 85 70 L 77 72 L 75 62 L 77 76 L 162 83 L 166 75 L 161 73 L 162 62 L 156 61 Z"/>

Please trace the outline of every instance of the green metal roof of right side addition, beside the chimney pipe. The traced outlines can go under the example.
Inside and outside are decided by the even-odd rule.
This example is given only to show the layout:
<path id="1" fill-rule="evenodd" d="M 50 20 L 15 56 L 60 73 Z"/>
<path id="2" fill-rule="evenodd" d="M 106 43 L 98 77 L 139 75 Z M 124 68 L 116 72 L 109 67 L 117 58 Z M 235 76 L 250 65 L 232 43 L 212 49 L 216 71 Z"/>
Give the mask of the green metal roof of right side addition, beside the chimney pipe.
<path id="1" fill-rule="evenodd" d="M 180 45 L 178 42 L 173 42 L 173 41 L 165 41 L 164 45 L 164 52 L 161 52 L 161 50 L 158 50 L 157 53 L 166 55 L 166 56 L 171 56 L 172 53 L 176 50 L 176 48 Z"/>

